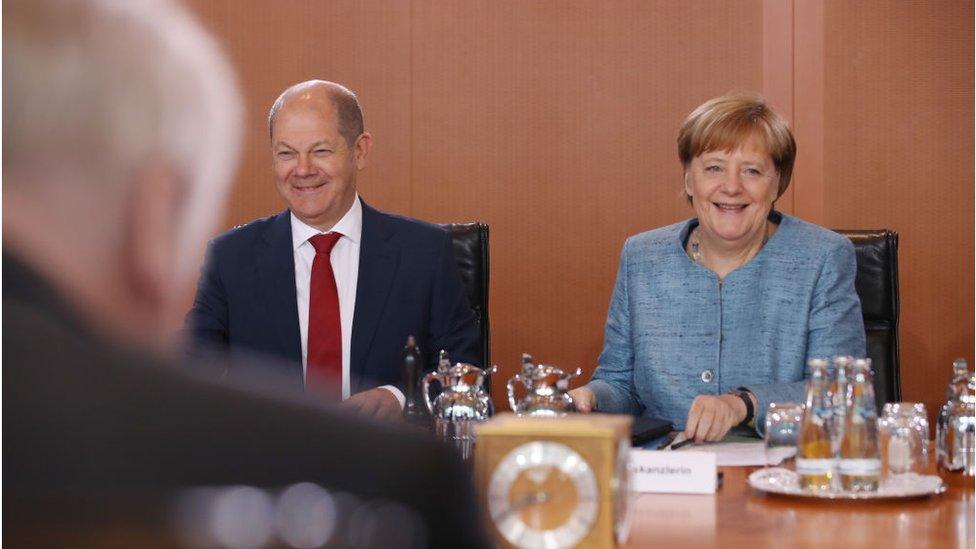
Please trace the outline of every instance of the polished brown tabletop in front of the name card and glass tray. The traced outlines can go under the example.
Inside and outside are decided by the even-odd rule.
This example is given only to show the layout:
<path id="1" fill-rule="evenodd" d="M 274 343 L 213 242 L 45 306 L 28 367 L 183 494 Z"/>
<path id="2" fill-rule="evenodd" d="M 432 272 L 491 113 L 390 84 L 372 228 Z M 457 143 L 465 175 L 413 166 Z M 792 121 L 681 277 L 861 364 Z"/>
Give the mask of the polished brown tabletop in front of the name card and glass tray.
<path id="1" fill-rule="evenodd" d="M 972 548 L 976 541 L 972 477 L 943 473 L 948 490 L 928 498 L 830 501 L 756 491 L 747 480 L 756 469 L 719 467 L 715 495 L 638 495 L 625 547 Z"/>

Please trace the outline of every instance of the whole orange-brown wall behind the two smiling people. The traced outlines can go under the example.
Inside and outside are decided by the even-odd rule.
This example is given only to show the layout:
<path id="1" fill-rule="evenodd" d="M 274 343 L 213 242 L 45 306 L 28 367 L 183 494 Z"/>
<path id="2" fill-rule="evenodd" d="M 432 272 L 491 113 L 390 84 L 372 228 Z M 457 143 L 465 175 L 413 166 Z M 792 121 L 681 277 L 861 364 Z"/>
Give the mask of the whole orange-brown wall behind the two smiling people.
<path id="1" fill-rule="evenodd" d="M 496 404 L 521 352 L 589 376 L 623 240 L 689 217 L 675 136 L 731 90 L 791 120 L 778 207 L 901 234 L 904 398 L 973 350 L 973 6 L 750 0 L 194 0 L 239 71 L 244 160 L 222 228 L 280 211 L 265 117 L 310 78 L 357 92 L 360 193 L 491 227 Z"/>

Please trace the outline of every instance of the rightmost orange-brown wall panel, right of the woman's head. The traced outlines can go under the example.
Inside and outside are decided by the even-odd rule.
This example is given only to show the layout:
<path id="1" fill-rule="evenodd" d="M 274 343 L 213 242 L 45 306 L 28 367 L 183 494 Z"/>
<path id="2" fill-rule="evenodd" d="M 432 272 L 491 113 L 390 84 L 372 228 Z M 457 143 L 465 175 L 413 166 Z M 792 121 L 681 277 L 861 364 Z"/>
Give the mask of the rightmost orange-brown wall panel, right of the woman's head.
<path id="1" fill-rule="evenodd" d="M 824 220 L 901 236 L 904 398 L 973 351 L 973 4 L 830 1 Z"/>

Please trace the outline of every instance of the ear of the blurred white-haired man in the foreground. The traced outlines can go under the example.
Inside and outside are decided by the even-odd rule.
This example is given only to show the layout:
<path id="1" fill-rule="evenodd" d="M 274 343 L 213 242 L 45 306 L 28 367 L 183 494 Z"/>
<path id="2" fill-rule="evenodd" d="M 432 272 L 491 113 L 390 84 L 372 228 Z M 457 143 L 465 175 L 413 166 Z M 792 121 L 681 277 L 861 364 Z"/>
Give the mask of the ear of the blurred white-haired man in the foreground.
<path id="1" fill-rule="evenodd" d="M 124 283 L 147 321 L 164 324 L 176 287 L 176 236 L 184 183 L 164 163 L 134 175 L 125 213 Z"/>

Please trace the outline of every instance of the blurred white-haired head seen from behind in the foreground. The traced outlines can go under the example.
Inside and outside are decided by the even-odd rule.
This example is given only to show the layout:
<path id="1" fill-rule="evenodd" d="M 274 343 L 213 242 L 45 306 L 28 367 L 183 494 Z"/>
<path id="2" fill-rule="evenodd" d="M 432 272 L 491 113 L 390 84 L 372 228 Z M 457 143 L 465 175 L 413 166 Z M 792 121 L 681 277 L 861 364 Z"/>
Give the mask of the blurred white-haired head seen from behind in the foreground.
<path id="1" fill-rule="evenodd" d="M 8 0 L 3 76 L 5 250 L 100 328 L 158 337 L 236 166 L 217 44 L 167 1 Z"/>

